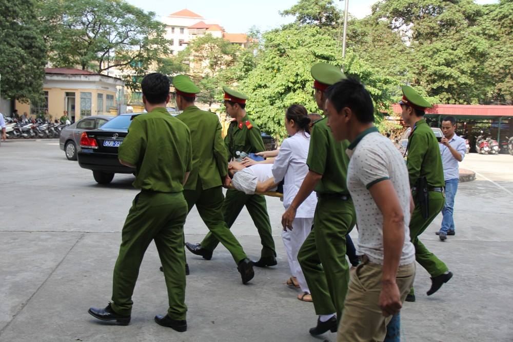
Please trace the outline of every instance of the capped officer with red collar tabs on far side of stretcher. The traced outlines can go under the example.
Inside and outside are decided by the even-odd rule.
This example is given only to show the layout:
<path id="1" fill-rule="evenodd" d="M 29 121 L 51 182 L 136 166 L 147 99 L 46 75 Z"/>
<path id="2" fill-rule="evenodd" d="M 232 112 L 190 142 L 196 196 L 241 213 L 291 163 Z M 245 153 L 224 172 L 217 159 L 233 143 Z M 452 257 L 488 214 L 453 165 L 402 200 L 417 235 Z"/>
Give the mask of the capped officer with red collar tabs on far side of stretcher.
<path id="1" fill-rule="evenodd" d="M 225 145 L 228 149 L 228 158 L 237 158 L 236 152 L 257 153 L 265 150 L 260 130 L 246 114 L 246 100 L 248 96 L 223 87 L 225 92 L 224 104 L 226 112 L 234 120 L 228 127 Z M 277 264 L 274 240 L 271 235 L 271 223 L 267 213 L 267 205 L 263 195 L 247 195 L 244 192 L 229 189 L 223 203 L 223 213 L 229 228 L 235 222 L 242 208 L 246 206 L 253 223 L 257 227 L 262 243 L 260 260 L 253 261 L 254 266 L 266 267 Z M 219 244 L 219 239 L 211 232 L 205 236 L 200 244 L 186 243 L 186 247 L 193 254 L 201 255 L 210 260 L 212 252 Z"/>

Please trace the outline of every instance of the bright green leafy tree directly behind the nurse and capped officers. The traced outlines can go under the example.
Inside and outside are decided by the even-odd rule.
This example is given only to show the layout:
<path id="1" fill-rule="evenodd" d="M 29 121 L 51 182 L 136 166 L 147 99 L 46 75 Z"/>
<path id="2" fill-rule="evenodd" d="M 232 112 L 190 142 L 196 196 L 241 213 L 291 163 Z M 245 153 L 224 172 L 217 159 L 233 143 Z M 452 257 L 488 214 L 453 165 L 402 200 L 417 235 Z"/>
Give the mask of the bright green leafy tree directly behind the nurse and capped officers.
<path id="1" fill-rule="evenodd" d="M 342 65 L 336 36 L 336 31 L 310 25 L 288 26 L 263 35 L 264 44 L 255 58 L 255 67 L 240 82 L 241 90 L 249 95 L 248 113 L 263 131 L 284 138 L 283 116 L 292 104 L 320 112 L 313 98 L 310 68 L 318 62 Z M 366 85 L 377 113 L 389 110 L 397 82 L 382 76 L 350 51 L 345 71 Z M 379 122 L 380 118 L 378 115 Z"/>

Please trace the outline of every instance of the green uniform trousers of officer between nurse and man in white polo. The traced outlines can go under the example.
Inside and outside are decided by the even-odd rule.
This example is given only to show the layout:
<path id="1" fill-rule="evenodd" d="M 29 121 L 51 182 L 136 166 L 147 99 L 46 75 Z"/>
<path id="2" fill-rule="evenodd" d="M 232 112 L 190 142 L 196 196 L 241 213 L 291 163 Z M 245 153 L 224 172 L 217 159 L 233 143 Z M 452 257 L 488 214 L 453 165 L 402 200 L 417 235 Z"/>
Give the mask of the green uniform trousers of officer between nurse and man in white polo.
<path id="1" fill-rule="evenodd" d="M 318 315 L 336 312 L 342 318 L 349 283 L 346 234 L 355 223 L 352 200 L 319 198 L 313 229 L 298 253 Z"/>

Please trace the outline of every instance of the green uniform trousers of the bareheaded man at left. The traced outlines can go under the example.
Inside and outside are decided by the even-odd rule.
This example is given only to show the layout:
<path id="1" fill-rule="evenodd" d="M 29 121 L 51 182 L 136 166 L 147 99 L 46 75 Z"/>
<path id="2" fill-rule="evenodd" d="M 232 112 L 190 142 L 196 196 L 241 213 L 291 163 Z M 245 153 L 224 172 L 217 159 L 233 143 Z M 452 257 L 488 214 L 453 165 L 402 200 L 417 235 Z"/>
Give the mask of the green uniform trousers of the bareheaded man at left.
<path id="1" fill-rule="evenodd" d="M 166 280 L 171 319 L 185 319 L 184 223 L 187 202 L 182 192 L 142 191 L 132 207 L 121 233 L 120 254 L 114 267 L 112 309 L 130 315 L 132 294 L 144 253 L 152 240 L 159 252 Z"/>

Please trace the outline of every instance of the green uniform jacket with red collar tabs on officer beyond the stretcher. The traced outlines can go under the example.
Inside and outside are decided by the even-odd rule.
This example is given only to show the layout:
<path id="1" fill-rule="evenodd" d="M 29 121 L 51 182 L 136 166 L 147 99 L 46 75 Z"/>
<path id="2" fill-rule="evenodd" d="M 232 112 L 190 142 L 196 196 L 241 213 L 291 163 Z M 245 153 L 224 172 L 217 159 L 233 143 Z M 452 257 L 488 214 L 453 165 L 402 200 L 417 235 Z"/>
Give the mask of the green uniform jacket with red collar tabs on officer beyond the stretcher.
<path id="1" fill-rule="evenodd" d="M 241 124 L 234 120 L 228 127 L 228 133 L 225 136 L 228 161 L 231 158 L 237 158 L 236 151 L 246 153 L 265 151 L 260 129 L 249 119 L 248 115 L 244 116 Z"/>

